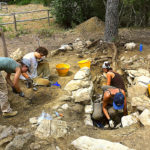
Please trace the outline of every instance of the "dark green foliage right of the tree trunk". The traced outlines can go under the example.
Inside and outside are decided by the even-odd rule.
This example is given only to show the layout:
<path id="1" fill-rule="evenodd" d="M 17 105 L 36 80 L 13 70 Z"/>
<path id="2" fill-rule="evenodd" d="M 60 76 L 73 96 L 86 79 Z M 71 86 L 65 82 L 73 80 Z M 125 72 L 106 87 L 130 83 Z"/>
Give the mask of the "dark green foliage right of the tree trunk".
<path id="1" fill-rule="evenodd" d="M 149 26 L 150 0 L 123 0 L 120 4 L 120 26 Z"/>

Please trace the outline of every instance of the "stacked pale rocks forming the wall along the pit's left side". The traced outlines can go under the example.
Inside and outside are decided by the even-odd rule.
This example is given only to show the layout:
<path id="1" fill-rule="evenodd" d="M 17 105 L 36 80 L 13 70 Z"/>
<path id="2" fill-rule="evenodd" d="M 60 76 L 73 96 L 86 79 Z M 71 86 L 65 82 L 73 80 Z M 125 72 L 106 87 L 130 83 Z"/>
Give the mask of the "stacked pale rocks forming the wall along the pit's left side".
<path id="1" fill-rule="evenodd" d="M 81 68 L 64 88 L 72 97 L 74 103 L 80 103 L 85 106 L 85 124 L 92 125 L 91 114 L 93 112 L 92 96 L 93 82 L 91 80 L 90 69 Z"/>

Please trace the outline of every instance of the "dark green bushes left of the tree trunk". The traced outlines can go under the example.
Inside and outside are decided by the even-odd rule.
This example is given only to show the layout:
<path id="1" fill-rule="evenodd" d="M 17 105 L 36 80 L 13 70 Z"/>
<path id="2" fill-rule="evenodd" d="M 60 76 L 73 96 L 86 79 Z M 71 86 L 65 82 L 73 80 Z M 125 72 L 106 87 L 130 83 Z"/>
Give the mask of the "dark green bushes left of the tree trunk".
<path id="1" fill-rule="evenodd" d="M 104 16 L 105 12 L 105 9 L 101 11 L 98 7 L 103 6 L 102 0 L 53 0 L 51 6 L 56 22 L 65 27 L 79 24 L 93 16 L 100 17 L 100 12 Z"/>

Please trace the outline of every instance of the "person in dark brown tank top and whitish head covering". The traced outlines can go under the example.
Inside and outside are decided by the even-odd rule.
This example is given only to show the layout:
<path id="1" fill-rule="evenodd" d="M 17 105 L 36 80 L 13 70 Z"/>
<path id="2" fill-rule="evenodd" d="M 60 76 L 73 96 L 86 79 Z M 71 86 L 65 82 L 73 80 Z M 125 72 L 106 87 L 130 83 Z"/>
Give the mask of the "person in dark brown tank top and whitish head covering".
<path id="1" fill-rule="evenodd" d="M 105 91 L 108 88 L 120 88 L 125 90 L 125 85 L 120 74 L 114 72 L 108 61 L 105 61 L 102 65 L 103 72 L 107 73 L 107 84 L 102 86 Z"/>

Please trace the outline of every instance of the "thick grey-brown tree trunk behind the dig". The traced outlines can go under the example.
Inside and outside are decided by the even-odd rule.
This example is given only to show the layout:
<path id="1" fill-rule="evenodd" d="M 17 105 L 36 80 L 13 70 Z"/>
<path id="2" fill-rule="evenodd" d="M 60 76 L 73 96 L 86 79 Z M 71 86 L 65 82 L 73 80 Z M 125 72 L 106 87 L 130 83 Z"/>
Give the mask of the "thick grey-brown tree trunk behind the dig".
<path id="1" fill-rule="evenodd" d="M 119 0 L 107 0 L 104 37 L 106 42 L 114 42 L 118 37 L 118 5 Z"/>

